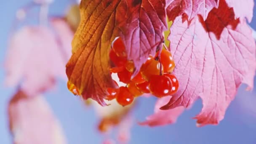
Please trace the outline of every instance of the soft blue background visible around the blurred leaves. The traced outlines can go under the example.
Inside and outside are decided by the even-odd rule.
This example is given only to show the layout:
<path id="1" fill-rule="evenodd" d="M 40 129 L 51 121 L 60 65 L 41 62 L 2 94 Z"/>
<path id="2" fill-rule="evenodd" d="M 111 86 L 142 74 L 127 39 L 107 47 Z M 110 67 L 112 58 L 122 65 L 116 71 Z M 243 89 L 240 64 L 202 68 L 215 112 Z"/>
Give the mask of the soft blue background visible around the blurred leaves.
<path id="1" fill-rule="evenodd" d="M 27 2 L 29 0 L 5 0 L 0 5 L 0 144 L 11 144 L 6 107 L 15 93 L 15 89 L 3 86 L 3 60 L 16 10 Z M 69 3 L 71 0 L 55 0 L 50 7 L 50 14 L 62 15 Z M 256 18 L 250 25 L 256 29 Z M 256 90 L 244 92 L 244 89 L 243 85 L 227 109 L 224 120 L 217 126 L 196 127 L 192 117 L 201 110 L 202 104 L 198 100 L 174 125 L 156 128 L 134 125 L 130 144 L 256 144 L 256 114 L 253 114 L 256 112 Z M 67 90 L 66 82 L 59 81 L 56 91 L 45 95 L 63 126 L 69 144 L 100 144 L 103 141 L 104 136 L 96 130 L 98 119 L 93 109 L 84 107 L 80 99 Z M 142 121 L 152 114 L 155 98 L 141 98 L 139 102 L 134 115 L 136 120 Z"/>

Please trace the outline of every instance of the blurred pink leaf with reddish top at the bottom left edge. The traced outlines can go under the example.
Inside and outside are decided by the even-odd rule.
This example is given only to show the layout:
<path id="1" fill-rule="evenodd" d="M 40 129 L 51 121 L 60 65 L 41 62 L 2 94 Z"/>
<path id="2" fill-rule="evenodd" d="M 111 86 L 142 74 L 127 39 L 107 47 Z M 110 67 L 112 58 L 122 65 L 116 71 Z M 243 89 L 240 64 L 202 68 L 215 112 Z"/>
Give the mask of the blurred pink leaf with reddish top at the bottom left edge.
<path id="1" fill-rule="evenodd" d="M 14 144 L 66 144 L 43 96 L 29 98 L 19 91 L 9 103 L 8 116 Z"/>

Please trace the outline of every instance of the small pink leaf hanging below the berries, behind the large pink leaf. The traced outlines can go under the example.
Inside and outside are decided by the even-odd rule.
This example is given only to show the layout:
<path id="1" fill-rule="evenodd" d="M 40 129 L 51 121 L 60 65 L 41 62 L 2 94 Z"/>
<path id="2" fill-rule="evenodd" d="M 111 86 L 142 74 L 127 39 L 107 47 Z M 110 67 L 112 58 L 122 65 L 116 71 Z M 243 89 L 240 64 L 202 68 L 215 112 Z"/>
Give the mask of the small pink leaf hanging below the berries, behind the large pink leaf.
<path id="1" fill-rule="evenodd" d="M 175 123 L 179 115 L 184 111 L 184 107 L 176 107 L 174 109 L 161 110 L 159 109 L 167 101 L 170 100 L 170 96 L 165 96 L 158 99 L 155 104 L 155 113 L 147 117 L 146 121 L 139 123 L 140 125 L 159 126 Z"/>

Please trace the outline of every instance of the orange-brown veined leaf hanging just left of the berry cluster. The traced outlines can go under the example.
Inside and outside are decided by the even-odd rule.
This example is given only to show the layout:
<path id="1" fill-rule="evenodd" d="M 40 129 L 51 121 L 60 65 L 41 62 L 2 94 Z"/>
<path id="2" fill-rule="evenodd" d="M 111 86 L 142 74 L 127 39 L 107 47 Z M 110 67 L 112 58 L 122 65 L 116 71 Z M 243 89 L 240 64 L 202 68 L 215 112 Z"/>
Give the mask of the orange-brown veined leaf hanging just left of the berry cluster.
<path id="1" fill-rule="evenodd" d="M 69 83 L 83 99 L 106 105 L 103 98 L 114 84 L 109 74 L 109 50 L 118 36 L 116 7 L 121 0 L 82 0 L 81 21 L 72 41 L 72 56 L 66 65 Z"/>

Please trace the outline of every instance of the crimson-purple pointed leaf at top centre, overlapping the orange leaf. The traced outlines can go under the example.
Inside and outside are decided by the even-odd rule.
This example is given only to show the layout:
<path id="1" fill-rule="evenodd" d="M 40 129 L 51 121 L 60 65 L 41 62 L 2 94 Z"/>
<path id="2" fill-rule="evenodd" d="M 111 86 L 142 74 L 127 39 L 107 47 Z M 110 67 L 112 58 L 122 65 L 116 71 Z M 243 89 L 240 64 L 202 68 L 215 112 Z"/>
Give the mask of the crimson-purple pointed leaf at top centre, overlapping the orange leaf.
<path id="1" fill-rule="evenodd" d="M 163 32 L 167 29 L 165 16 L 165 0 L 126 0 L 117 7 L 117 27 L 128 60 L 135 64 L 135 74 L 163 42 Z"/>

